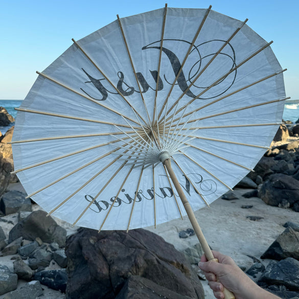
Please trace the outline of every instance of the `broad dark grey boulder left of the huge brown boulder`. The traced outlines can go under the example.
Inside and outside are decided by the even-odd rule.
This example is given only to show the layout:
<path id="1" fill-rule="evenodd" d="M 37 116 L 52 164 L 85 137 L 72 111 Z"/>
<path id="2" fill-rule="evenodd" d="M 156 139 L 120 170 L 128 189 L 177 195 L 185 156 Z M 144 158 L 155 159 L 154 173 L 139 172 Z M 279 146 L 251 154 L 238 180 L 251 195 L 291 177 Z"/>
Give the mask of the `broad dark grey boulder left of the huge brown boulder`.
<path id="1" fill-rule="evenodd" d="M 43 242 L 57 242 L 64 246 L 66 230 L 59 226 L 52 217 L 46 217 L 44 211 L 32 212 L 27 218 L 18 222 L 9 233 L 9 240 L 23 236 L 25 239 L 34 241 L 39 237 Z"/>

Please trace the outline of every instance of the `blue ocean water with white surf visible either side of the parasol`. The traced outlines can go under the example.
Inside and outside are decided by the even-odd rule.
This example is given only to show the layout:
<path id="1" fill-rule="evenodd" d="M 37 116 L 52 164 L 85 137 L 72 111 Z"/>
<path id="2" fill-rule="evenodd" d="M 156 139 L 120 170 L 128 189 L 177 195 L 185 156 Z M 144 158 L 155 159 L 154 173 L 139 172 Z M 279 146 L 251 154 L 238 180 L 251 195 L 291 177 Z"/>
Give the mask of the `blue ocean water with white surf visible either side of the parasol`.
<path id="1" fill-rule="evenodd" d="M 21 104 L 21 100 L 0 100 L 0 106 L 4 107 L 9 114 L 16 118 L 17 111 L 14 110 L 15 107 L 19 107 Z M 299 100 L 288 100 L 285 102 L 283 120 L 295 122 L 299 119 Z M 0 126 L 0 131 L 2 134 L 5 134 L 6 131 L 12 127 L 14 123 L 12 123 L 8 127 Z"/>

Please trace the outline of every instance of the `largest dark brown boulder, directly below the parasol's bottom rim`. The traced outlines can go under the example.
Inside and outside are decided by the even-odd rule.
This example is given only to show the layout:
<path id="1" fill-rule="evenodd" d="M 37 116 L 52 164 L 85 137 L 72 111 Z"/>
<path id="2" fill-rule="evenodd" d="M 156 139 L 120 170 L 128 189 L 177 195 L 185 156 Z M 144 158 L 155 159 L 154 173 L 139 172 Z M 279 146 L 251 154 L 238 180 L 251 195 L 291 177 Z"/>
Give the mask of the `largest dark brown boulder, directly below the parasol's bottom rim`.
<path id="1" fill-rule="evenodd" d="M 68 299 L 114 298 L 131 275 L 191 298 L 204 298 L 185 256 L 145 229 L 100 232 L 80 228 L 67 239 Z"/>

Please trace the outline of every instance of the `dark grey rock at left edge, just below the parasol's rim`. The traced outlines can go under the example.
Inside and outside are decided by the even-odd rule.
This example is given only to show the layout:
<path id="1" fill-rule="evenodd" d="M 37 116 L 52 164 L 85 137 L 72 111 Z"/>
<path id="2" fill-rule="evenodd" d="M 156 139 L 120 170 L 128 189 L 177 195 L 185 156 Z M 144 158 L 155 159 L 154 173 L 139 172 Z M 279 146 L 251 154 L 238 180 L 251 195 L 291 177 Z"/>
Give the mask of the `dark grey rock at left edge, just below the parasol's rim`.
<path id="1" fill-rule="evenodd" d="M 19 191 L 9 191 L 4 193 L 0 201 L 0 208 L 5 215 L 17 213 L 19 211 L 31 212 L 31 201 L 26 198 L 26 193 Z"/>

